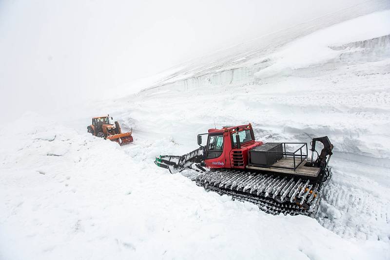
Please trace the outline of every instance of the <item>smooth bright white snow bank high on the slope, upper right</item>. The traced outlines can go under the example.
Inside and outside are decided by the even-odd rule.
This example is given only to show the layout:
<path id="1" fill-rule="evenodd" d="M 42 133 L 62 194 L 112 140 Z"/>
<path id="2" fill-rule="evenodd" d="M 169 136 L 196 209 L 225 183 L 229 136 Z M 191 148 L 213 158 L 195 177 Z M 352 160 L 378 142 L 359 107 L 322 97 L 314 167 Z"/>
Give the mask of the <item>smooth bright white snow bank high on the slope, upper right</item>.
<path id="1" fill-rule="evenodd" d="M 337 61 L 344 52 L 333 46 L 390 35 L 390 10 L 351 19 L 308 36 L 294 40 L 271 55 L 272 65 L 254 76 L 263 79 L 275 74 L 291 74 L 292 70 Z"/>

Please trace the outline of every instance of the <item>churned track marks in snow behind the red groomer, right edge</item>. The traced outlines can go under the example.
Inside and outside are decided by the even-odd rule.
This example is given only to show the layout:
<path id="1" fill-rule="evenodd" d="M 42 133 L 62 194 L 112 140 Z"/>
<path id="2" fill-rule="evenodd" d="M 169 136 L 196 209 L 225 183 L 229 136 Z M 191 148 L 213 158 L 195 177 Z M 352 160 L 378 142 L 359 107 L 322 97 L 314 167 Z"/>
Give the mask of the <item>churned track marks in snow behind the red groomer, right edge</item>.
<path id="1" fill-rule="evenodd" d="M 323 200 L 317 220 L 324 227 L 342 237 L 390 242 L 389 201 L 334 183 L 330 183 Z"/>

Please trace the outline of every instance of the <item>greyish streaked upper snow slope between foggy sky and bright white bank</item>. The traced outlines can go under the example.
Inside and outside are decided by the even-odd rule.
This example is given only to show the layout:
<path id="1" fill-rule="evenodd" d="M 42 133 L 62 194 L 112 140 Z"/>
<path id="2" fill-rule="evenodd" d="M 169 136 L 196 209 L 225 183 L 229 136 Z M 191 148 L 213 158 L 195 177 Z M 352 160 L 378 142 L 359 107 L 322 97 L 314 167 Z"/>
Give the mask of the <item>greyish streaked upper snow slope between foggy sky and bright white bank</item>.
<path id="1" fill-rule="evenodd" d="M 244 85 L 255 82 L 254 73 L 271 65 L 268 61 L 262 61 L 276 48 L 331 25 L 389 8 L 388 0 L 367 1 L 265 37 L 258 37 L 250 42 L 182 64 L 176 73 L 141 92 L 185 91 L 203 86 L 229 85 L 237 82 Z"/>

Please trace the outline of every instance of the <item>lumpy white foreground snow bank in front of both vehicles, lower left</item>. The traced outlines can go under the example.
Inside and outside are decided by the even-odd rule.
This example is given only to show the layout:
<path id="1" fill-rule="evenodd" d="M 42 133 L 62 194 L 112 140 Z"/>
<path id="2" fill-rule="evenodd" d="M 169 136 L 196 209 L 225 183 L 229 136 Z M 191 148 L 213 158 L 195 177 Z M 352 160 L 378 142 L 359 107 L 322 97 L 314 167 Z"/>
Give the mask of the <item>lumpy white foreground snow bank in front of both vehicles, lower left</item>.
<path id="1" fill-rule="evenodd" d="M 1 259 L 386 259 L 390 253 L 385 241 L 346 241 L 314 219 L 267 215 L 208 193 L 135 160 L 137 144 L 121 149 L 34 114 L 11 126 L 12 133 L 0 132 Z"/>

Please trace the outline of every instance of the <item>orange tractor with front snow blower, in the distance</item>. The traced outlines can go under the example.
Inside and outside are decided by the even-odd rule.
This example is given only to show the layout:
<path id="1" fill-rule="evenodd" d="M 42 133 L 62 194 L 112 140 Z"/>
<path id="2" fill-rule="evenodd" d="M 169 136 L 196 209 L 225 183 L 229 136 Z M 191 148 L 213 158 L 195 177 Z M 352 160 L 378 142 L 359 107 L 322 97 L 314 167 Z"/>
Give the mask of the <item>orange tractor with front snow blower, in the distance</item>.
<path id="1" fill-rule="evenodd" d="M 111 120 L 113 120 L 112 117 Z M 122 133 L 118 121 L 115 121 L 114 124 L 111 123 L 110 115 L 93 117 L 92 125 L 89 125 L 87 130 L 92 135 L 117 142 L 119 145 L 133 142 L 131 135 L 133 129 L 130 132 Z"/>

